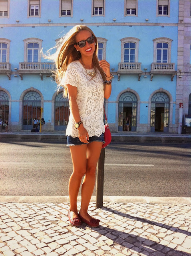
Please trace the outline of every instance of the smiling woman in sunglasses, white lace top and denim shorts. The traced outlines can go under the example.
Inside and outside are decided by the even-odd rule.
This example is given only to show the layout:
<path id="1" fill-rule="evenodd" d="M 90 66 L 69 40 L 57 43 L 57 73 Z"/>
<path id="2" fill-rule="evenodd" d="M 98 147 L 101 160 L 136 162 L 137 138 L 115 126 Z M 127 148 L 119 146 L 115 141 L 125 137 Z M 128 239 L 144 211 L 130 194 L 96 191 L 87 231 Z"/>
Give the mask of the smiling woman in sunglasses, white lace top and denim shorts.
<path id="1" fill-rule="evenodd" d="M 97 38 L 90 28 L 78 25 L 61 40 L 56 54 L 56 81 L 64 87 L 70 104 L 66 129 L 72 156 L 73 172 L 69 180 L 70 210 L 74 226 L 82 221 L 99 226 L 99 220 L 88 214 L 96 181 L 96 165 L 104 142 L 103 100 L 111 94 L 111 74 L 106 60 L 98 61 Z M 84 176 L 85 175 L 85 176 Z M 82 202 L 77 209 L 77 196 L 82 177 Z"/>

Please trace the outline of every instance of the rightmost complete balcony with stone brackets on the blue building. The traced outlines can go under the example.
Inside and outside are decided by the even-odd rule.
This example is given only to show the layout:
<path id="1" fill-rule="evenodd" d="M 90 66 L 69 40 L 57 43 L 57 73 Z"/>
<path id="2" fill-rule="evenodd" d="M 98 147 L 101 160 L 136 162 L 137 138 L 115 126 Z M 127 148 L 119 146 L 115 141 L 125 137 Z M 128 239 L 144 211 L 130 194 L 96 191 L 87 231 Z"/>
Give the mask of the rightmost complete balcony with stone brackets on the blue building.
<path id="1" fill-rule="evenodd" d="M 175 71 L 175 63 L 157 63 L 153 62 L 151 64 L 151 81 L 153 79 L 154 74 L 170 74 L 171 75 L 171 81 L 173 81 L 173 77 L 176 74 Z"/>

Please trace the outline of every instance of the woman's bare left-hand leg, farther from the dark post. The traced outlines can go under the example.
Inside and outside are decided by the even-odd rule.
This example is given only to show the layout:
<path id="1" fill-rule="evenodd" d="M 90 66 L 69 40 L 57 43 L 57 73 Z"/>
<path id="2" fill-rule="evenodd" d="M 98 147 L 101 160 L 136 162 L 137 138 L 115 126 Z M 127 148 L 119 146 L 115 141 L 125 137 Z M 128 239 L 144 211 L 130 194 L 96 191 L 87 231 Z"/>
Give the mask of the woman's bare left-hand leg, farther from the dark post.
<path id="1" fill-rule="evenodd" d="M 71 218 L 78 217 L 77 197 L 82 177 L 86 173 L 86 151 L 87 144 L 70 146 L 72 156 L 73 172 L 69 180 L 69 198 Z"/>

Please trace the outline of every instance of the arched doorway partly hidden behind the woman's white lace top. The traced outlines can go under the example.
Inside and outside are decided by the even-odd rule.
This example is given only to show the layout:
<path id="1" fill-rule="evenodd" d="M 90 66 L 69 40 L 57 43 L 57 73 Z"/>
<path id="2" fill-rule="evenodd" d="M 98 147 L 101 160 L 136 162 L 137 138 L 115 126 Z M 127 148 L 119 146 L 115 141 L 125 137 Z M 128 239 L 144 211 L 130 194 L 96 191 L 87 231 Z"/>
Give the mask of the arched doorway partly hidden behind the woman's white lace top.
<path id="1" fill-rule="evenodd" d="M 66 130 L 68 125 L 70 110 L 68 97 L 63 98 L 63 92 L 60 92 L 55 98 L 55 120 L 54 130 Z"/>

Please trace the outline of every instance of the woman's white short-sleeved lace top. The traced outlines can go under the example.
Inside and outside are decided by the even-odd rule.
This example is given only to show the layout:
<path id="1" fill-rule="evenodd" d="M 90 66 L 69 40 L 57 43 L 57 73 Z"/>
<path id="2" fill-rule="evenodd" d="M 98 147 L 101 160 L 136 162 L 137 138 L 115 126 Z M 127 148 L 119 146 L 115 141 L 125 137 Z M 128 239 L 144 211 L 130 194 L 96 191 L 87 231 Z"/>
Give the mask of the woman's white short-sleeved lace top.
<path id="1" fill-rule="evenodd" d="M 100 136 L 104 131 L 103 123 L 103 79 L 97 70 L 96 76 L 91 79 L 86 69 L 77 60 L 68 65 L 61 84 L 70 84 L 78 89 L 76 102 L 78 104 L 80 118 L 90 137 Z M 66 135 L 78 137 L 78 130 L 74 127 L 74 118 L 70 110 L 70 117 L 66 129 Z"/>

